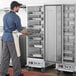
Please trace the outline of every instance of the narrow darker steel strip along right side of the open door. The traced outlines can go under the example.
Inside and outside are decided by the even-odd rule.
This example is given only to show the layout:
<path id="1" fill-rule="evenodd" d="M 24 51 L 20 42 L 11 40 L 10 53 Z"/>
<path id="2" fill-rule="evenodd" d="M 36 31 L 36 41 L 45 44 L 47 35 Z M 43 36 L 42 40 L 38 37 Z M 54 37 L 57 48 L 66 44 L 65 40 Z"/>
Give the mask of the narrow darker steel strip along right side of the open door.
<path id="1" fill-rule="evenodd" d="M 56 61 L 61 62 L 62 61 L 62 6 L 57 6 L 57 25 L 56 25 Z"/>

